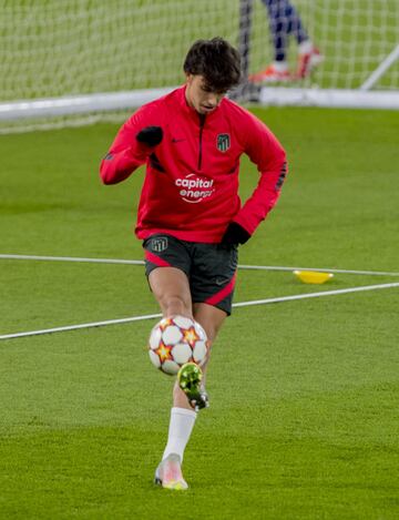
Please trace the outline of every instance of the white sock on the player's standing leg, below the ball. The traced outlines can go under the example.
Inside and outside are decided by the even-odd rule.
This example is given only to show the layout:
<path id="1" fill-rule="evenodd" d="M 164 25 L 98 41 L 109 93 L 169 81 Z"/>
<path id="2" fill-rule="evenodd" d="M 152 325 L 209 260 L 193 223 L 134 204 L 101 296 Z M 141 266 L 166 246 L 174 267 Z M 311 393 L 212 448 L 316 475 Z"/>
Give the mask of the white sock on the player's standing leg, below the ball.
<path id="1" fill-rule="evenodd" d="M 186 408 L 172 408 L 167 445 L 162 457 L 164 460 L 171 453 L 177 453 L 183 462 L 184 449 L 194 428 L 196 412 Z"/>

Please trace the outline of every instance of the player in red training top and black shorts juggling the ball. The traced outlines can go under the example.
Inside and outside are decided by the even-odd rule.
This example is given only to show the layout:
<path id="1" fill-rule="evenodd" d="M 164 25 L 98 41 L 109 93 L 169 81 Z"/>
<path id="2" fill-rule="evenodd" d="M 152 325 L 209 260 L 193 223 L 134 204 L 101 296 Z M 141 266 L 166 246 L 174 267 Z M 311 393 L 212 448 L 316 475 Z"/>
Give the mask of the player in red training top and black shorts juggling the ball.
<path id="1" fill-rule="evenodd" d="M 151 290 L 163 316 L 194 318 L 211 346 L 232 312 L 237 246 L 276 204 L 286 154 L 262 121 L 225 98 L 241 80 L 241 57 L 227 41 L 196 41 L 184 72 L 181 88 L 143 105 L 124 123 L 100 172 L 105 184 L 115 184 L 146 165 L 135 233 L 143 241 Z M 257 166 L 259 181 L 242 205 L 244 153 Z M 156 483 L 187 488 L 183 453 L 197 410 L 206 406 L 204 386 L 188 400 L 176 381 Z"/>

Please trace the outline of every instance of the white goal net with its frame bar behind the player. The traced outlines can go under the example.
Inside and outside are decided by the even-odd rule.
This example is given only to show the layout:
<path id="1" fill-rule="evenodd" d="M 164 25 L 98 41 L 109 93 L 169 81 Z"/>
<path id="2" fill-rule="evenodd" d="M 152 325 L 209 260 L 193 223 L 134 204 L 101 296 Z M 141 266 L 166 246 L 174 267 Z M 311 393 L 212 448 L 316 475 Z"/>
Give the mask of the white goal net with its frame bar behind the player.
<path id="1" fill-rule="evenodd" d="M 382 93 L 396 106 L 398 0 L 294 3 L 325 60 L 304 80 L 265 86 L 260 101 L 316 103 L 311 94 L 334 91 Z M 245 41 L 249 73 L 273 60 L 260 0 L 0 0 L 0 12 L 2 133 L 121 118 L 184 81 L 184 55 L 200 38 Z M 288 57 L 295 67 L 294 38 Z"/>

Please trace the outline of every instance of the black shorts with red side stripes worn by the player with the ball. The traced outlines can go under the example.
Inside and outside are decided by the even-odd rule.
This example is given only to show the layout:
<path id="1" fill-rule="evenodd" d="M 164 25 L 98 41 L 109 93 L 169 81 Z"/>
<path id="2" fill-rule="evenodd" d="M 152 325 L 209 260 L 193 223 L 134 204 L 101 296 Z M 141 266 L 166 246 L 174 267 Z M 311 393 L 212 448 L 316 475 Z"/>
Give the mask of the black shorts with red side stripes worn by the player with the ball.
<path id="1" fill-rule="evenodd" d="M 188 278 L 193 304 L 208 304 L 232 314 L 238 253 L 236 246 L 180 241 L 156 234 L 143 242 L 145 274 L 176 267 Z"/>

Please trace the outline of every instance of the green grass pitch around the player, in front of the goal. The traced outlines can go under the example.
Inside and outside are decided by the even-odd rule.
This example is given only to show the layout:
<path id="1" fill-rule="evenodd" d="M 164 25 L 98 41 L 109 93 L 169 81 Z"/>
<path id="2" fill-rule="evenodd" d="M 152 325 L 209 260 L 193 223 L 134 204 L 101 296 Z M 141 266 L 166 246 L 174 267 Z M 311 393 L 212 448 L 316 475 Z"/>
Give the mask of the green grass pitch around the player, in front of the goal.
<path id="1" fill-rule="evenodd" d="M 398 272 L 397 113 L 256 110 L 288 152 L 282 198 L 242 264 Z M 116 126 L 0 137 L 0 253 L 142 258 L 143 172 L 98 176 Z M 247 196 L 257 173 L 242 165 Z M 156 313 L 143 268 L 0 259 L 0 335 Z M 236 302 L 397 282 L 238 275 Z M 0 518 L 399 517 L 397 288 L 237 308 L 214 346 L 187 492 L 152 485 L 172 379 L 153 322 L 0 341 Z"/>

